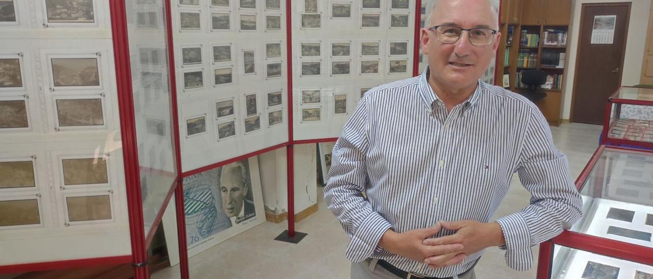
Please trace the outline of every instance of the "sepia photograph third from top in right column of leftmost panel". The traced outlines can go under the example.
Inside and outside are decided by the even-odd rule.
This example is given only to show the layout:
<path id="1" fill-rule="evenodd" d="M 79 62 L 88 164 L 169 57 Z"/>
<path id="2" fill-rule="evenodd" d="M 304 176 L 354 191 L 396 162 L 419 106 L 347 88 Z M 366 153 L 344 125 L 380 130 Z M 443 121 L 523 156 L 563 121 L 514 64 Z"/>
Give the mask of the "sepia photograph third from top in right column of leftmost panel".
<path id="1" fill-rule="evenodd" d="M 54 98 L 57 130 L 106 128 L 104 98 L 91 96 L 61 96 Z"/>

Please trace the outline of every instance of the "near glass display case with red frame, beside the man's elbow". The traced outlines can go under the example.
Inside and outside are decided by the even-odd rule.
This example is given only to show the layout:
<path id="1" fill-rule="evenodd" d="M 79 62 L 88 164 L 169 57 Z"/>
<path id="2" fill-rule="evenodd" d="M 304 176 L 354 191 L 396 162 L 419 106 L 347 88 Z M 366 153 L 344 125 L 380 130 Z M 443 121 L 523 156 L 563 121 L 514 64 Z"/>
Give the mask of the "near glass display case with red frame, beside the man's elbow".
<path id="1" fill-rule="evenodd" d="M 576 186 L 583 217 L 541 244 L 537 278 L 653 278 L 653 152 L 601 145 Z"/>

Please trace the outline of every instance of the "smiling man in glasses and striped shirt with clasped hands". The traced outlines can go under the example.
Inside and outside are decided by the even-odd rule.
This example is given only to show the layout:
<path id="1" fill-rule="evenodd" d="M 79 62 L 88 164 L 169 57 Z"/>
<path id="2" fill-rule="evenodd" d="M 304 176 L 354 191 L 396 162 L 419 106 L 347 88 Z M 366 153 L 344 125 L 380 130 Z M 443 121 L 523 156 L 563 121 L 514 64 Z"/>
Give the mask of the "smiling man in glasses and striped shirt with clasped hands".
<path id="1" fill-rule="evenodd" d="M 498 1 L 434 5 L 421 30 L 428 68 L 366 93 L 332 153 L 325 200 L 351 238 L 352 278 L 475 278 L 490 246 L 524 271 L 532 246 L 582 214 L 537 107 L 479 81 L 501 37 Z M 488 222 L 514 172 L 530 205 Z"/>

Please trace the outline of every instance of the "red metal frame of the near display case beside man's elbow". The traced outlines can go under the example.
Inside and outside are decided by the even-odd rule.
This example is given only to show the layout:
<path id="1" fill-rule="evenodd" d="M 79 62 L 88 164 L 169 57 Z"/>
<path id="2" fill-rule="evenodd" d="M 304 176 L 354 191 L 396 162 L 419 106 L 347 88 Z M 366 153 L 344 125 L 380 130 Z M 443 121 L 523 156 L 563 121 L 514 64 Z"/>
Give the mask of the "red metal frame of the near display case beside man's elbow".
<path id="1" fill-rule="evenodd" d="M 592 158 L 590 158 L 588 164 L 581 171 L 581 175 L 579 175 L 578 179 L 575 181 L 575 186 L 579 192 L 581 192 L 583 186 L 588 186 L 585 185 L 585 183 L 588 181 L 595 168 L 597 168 L 598 171 L 602 171 L 602 173 L 605 172 L 605 166 L 598 164 L 599 158 L 601 158 L 601 155 L 605 151 L 636 151 L 639 153 L 647 153 L 653 156 L 653 151 L 648 151 L 645 149 L 600 145 L 596 152 L 594 152 L 592 155 Z M 586 209 L 584 209 L 584 211 L 585 210 Z M 626 261 L 633 261 L 635 263 L 641 263 L 644 265 L 653 265 L 653 247 L 646 247 L 638 244 L 633 244 L 631 242 L 598 237 L 588 233 L 565 230 L 557 237 L 554 237 L 553 239 L 542 242 L 540 244 L 539 259 L 537 263 L 537 279 L 551 278 L 554 272 L 552 269 L 554 262 L 555 245 L 586 251 L 593 254 L 599 254 L 602 256 L 615 257 Z"/>

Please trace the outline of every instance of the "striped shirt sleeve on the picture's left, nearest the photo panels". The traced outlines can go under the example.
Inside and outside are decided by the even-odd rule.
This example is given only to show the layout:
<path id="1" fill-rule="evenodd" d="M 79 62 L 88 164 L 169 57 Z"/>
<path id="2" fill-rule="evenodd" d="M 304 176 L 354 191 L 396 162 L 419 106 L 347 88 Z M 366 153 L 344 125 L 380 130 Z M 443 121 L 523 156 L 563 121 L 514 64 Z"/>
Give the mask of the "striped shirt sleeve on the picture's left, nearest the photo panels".
<path id="1" fill-rule="evenodd" d="M 381 236 L 392 226 L 372 209 L 362 196 L 368 176 L 366 152 L 368 149 L 368 108 L 363 98 L 345 124 L 336 141 L 331 156 L 329 180 L 325 186 L 328 208 L 340 220 L 351 241 L 347 246 L 347 259 L 360 262 L 380 250 Z"/>

